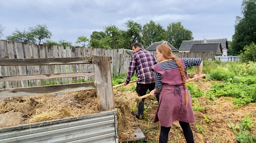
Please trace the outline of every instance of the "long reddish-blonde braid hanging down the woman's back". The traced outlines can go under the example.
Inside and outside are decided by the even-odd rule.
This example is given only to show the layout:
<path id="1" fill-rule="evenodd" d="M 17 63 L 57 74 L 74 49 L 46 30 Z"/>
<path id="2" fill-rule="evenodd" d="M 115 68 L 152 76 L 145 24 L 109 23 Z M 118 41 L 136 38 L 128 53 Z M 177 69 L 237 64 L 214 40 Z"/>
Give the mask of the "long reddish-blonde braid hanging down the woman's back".
<path id="1" fill-rule="evenodd" d="M 182 67 L 182 64 L 181 64 L 180 60 L 176 56 L 173 56 L 172 59 L 178 65 L 179 70 L 181 72 L 182 83 L 183 83 L 184 90 L 185 90 L 185 106 L 187 107 L 188 106 L 188 102 L 189 102 L 189 95 L 187 93 L 185 71 L 184 71 L 184 68 Z"/>

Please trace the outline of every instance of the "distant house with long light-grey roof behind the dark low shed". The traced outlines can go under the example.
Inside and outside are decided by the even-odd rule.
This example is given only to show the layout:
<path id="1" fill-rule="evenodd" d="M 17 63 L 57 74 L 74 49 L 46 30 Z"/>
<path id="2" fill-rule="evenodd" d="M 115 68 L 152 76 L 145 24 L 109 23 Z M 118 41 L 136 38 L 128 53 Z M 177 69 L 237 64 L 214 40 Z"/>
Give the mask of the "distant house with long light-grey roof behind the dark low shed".
<path id="1" fill-rule="evenodd" d="M 206 45 L 196 45 L 196 44 L 206 44 Z M 220 44 L 220 46 L 217 45 L 209 45 L 209 44 Z M 219 55 L 220 52 L 219 51 L 215 51 L 218 50 L 217 47 L 221 47 L 221 56 L 227 56 L 227 51 L 228 51 L 228 40 L 227 38 L 223 38 L 223 39 L 210 39 L 210 40 L 189 40 L 189 41 L 183 41 L 180 48 L 179 48 L 179 52 L 191 52 L 192 47 L 194 46 L 194 48 L 199 48 L 200 50 L 197 50 L 198 52 L 210 52 L 208 50 L 212 49 L 214 51 L 214 53 L 216 53 L 215 55 Z M 207 48 L 207 46 L 210 46 L 209 48 Z M 215 48 L 213 48 L 215 47 Z M 195 49 L 193 48 L 193 52 L 195 51 Z M 204 50 L 202 48 L 205 48 Z"/>

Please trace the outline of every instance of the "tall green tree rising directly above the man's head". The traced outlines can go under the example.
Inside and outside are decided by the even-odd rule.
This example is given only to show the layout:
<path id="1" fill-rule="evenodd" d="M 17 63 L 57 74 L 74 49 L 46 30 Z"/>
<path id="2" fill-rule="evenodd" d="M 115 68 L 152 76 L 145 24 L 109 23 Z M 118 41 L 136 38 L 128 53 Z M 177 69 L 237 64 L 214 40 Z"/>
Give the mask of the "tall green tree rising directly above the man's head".
<path id="1" fill-rule="evenodd" d="M 139 42 L 141 45 L 144 45 L 142 41 L 142 26 L 139 23 L 136 23 L 132 20 L 128 20 L 126 24 L 127 31 L 124 35 L 125 47 L 131 49 L 131 44 L 135 42 Z"/>

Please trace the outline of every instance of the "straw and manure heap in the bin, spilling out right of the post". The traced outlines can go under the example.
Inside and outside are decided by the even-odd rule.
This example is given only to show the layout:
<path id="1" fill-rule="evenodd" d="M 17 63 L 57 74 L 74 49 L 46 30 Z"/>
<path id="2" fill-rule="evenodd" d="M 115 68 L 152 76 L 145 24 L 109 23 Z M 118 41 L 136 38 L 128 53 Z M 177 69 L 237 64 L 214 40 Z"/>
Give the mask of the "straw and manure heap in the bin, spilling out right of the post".
<path id="1" fill-rule="evenodd" d="M 114 93 L 119 140 L 125 141 L 136 126 L 131 109 L 139 98 L 136 92 L 114 90 Z M 96 96 L 96 90 L 88 90 L 0 99 L 0 128 L 99 113 Z"/>

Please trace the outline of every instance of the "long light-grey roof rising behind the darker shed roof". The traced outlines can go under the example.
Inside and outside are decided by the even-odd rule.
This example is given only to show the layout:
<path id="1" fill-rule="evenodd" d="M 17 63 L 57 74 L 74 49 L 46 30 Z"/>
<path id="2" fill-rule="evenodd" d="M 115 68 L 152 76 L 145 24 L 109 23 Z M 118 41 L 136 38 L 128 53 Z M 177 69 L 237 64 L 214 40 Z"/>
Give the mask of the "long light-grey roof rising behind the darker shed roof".
<path id="1" fill-rule="evenodd" d="M 204 40 L 189 40 L 189 41 L 183 41 L 179 50 L 190 50 L 193 46 L 193 44 L 202 44 L 204 43 Z M 228 48 L 228 40 L 227 38 L 222 39 L 209 39 L 206 40 L 206 43 L 221 43 L 222 48 Z"/>

